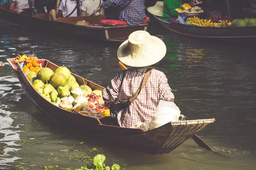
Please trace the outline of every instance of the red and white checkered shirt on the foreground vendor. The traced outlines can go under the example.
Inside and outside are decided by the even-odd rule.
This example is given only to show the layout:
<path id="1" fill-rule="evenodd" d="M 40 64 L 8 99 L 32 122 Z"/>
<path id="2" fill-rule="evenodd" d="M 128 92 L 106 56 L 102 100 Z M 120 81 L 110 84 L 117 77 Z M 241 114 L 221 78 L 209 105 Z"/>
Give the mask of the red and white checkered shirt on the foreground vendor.
<path id="1" fill-rule="evenodd" d="M 125 103 L 140 88 L 143 77 L 148 67 L 130 68 L 119 73 L 111 80 L 103 92 L 103 97 L 110 101 L 118 99 Z M 163 72 L 152 70 L 150 77 L 139 96 L 131 103 L 129 108 L 122 109 L 117 115 L 121 127 L 132 127 L 138 122 L 148 122 L 156 112 L 160 100 L 171 101 L 174 99 L 172 89 L 169 87 Z"/>

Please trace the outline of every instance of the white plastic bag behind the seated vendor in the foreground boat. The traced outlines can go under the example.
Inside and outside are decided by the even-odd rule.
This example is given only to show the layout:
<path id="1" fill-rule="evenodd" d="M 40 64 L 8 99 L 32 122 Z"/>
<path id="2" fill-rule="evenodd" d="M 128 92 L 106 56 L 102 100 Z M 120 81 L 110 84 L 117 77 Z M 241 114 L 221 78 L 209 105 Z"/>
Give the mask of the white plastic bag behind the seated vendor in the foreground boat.
<path id="1" fill-rule="evenodd" d="M 169 122 L 178 121 L 180 116 L 180 109 L 174 102 L 166 102 L 160 100 L 157 111 L 152 116 L 149 122 L 148 130 L 155 129 Z"/>

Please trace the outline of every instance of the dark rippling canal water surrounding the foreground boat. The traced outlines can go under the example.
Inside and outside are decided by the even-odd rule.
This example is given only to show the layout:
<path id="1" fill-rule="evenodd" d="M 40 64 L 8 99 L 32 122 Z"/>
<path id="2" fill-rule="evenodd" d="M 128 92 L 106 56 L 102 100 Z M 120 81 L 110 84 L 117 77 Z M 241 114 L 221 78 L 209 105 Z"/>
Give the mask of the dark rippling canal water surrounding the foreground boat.
<path id="1" fill-rule="evenodd" d="M 76 41 L 0 22 L 0 61 L 6 64 L 0 68 L 0 169 L 75 169 L 104 154 L 108 166 L 125 170 L 255 170 L 255 43 L 189 39 L 160 26 L 149 31 L 166 43 L 167 54 L 154 68 L 166 74 L 181 113 L 190 120 L 215 118 L 198 136 L 229 158 L 192 139 L 165 155 L 124 150 L 40 114 L 7 58 L 34 54 L 106 87 L 121 71 L 119 44 Z"/>

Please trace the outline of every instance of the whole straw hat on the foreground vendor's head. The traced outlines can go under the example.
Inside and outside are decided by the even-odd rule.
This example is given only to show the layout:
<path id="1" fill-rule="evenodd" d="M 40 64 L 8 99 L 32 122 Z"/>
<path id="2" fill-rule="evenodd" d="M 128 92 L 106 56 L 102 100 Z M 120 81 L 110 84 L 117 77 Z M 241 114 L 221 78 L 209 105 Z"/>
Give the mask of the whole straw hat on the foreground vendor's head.
<path id="1" fill-rule="evenodd" d="M 128 40 L 123 42 L 117 57 L 125 65 L 131 67 L 145 67 L 159 62 L 166 54 L 166 45 L 146 31 L 135 31 Z"/>

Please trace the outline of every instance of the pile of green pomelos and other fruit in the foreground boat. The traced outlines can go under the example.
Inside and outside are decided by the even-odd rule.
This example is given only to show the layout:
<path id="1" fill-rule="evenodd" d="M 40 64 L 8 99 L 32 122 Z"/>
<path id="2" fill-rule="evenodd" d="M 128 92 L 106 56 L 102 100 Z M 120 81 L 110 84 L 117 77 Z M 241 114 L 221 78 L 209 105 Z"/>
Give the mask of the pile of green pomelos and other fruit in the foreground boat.
<path id="1" fill-rule="evenodd" d="M 76 113 L 88 109 L 89 113 L 99 114 L 100 116 L 95 116 L 97 118 L 110 116 L 109 109 L 103 107 L 102 91 L 92 91 L 85 83 L 79 85 L 64 65 L 55 71 L 46 66 L 41 68 L 38 74 L 31 71 L 27 77 L 41 96 L 60 108 Z M 76 109 L 84 104 L 88 106 L 86 109 Z"/>

